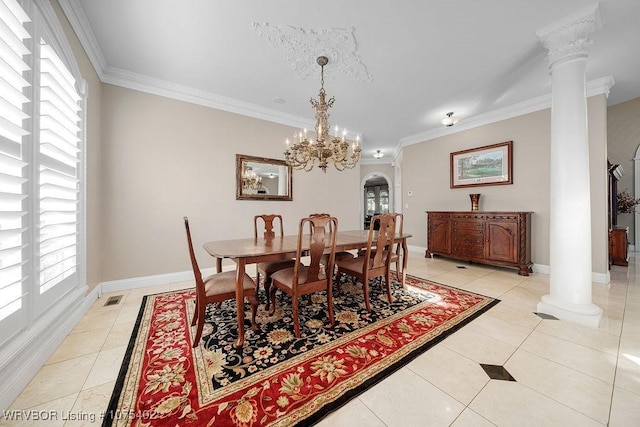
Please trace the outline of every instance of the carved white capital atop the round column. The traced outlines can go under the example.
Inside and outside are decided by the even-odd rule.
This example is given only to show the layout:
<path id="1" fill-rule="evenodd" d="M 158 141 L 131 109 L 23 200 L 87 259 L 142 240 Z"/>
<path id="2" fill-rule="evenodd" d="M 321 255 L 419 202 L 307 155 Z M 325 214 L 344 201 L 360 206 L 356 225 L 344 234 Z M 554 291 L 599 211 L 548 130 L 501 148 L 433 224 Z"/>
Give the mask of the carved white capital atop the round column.
<path id="1" fill-rule="evenodd" d="M 589 34 L 602 27 L 598 3 L 536 32 L 549 51 L 549 66 L 572 57 L 587 56 L 592 41 Z"/>

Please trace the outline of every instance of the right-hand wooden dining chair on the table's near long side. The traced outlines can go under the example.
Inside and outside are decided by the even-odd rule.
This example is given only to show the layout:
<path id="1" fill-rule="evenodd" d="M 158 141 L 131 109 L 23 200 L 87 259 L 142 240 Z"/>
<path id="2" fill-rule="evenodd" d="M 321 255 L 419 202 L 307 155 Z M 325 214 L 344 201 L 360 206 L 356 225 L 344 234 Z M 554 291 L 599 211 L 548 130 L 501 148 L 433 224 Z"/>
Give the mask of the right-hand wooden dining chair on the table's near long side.
<path id="1" fill-rule="evenodd" d="M 371 224 L 369 224 L 369 237 L 364 253 L 353 259 L 337 262 L 338 276 L 346 274 L 362 281 L 364 303 L 367 311 L 371 311 L 371 304 L 369 302 L 370 279 L 384 277 L 387 285 L 387 297 L 389 304 L 393 302 L 391 298 L 391 275 L 389 269 L 391 253 L 393 253 L 393 251 L 378 251 L 375 249 L 384 248 L 385 246 L 393 248 L 394 238 L 395 215 L 376 215 L 372 218 Z M 375 254 L 373 254 L 374 250 Z"/>

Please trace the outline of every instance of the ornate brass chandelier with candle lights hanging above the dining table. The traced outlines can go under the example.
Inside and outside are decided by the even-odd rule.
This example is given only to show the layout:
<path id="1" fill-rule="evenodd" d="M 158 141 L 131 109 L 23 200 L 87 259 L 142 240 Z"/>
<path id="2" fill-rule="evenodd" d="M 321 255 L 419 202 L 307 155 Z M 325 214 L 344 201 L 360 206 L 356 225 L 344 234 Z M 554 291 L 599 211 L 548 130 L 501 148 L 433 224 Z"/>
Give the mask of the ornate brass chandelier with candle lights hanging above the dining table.
<path id="1" fill-rule="evenodd" d="M 329 161 L 339 171 L 351 169 L 358 164 L 360 160 L 360 138 L 352 144 L 349 150 L 349 143 L 346 140 L 347 131 L 342 132 L 342 139 L 338 138 L 338 126 L 335 127 L 333 139 L 329 137 L 329 113 L 328 110 L 333 106 L 334 97 L 326 99 L 324 91 L 324 66 L 329 63 L 326 56 L 320 56 L 317 59 L 320 65 L 320 93 L 318 100 L 311 98 L 311 107 L 316 110 L 316 140 L 309 141 L 307 139 L 307 130 L 296 132 L 293 137 L 293 145 L 287 139 L 287 149 L 284 152 L 285 160 L 288 165 L 294 169 L 304 169 L 310 171 L 317 162 L 318 167 L 323 172 L 327 172 Z"/>

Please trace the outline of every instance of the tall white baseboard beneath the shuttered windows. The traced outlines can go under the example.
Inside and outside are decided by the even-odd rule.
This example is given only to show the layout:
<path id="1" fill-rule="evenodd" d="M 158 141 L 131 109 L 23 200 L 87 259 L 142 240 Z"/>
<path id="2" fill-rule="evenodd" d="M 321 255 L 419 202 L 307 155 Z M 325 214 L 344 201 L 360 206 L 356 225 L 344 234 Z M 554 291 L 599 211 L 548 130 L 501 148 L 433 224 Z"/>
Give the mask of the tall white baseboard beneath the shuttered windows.
<path id="1" fill-rule="evenodd" d="M 7 409 L 98 298 L 75 289 L 0 352 L 0 408 Z"/>

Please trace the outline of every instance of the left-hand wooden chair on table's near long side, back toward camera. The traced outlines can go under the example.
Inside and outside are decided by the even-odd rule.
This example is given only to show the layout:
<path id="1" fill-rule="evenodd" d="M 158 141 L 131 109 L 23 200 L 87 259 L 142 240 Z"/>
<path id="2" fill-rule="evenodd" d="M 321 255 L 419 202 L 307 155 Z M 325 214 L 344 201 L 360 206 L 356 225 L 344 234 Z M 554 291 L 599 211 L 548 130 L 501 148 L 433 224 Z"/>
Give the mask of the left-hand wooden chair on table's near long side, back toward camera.
<path id="1" fill-rule="evenodd" d="M 304 234 L 307 225 L 310 233 Z M 302 218 L 298 228 L 298 246 L 295 265 L 273 273 L 273 284 L 269 293 L 272 302 L 270 315 L 276 311 L 275 293 L 280 289 L 291 296 L 293 309 L 293 327 L 295 335 L 300 338 L 300 321 L 298 315 L 299 297 L 314 292 L 325 291 L 327 293 L 327 310 L 331 326 L 335 324 L 333 316 L 333 267 L 336 252 L 336 235 L 338 232 L 338 219 L 330 216 L 314 216 Z M 305 245 L 306 243 L 306 245 Z M 308 249 L 306 249 L 308 247 Z M 328 253 L 325 251 L 328 249 Z M 307 253 L 309 265 L 302 263 L 302 257 Z M 323 255 L 328 255 L 326 268 L 322 267 Z"/>

